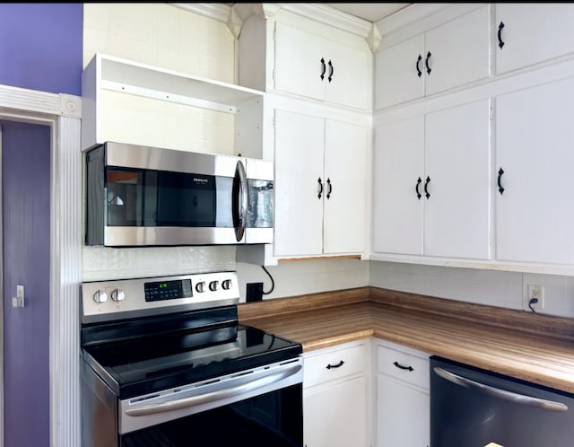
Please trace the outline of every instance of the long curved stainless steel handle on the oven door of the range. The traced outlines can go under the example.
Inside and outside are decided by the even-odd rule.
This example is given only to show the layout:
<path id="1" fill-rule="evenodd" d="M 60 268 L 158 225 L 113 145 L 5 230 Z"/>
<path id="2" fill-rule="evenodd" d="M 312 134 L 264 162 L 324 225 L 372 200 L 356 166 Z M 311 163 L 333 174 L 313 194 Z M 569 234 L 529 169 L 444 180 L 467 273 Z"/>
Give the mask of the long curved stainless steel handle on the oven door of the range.
<path id="1" fill-rule="evenodd" d="M 125 410 L 127 416 L 149 416 L 156 413 L 162 413 L 165 411 L 173 411 L 181 408 L 194 407 L 196 405 L 207 404 L 211 402 L 216 402 L 222 399 L 232 398 L 239 394 L 248 393 L 252 390 L 257 390 L 258 388 L 271 385 L 277 381 L 283 381 L 290 377 L 291 375 L 297 374 L 302 368 L 301 364 L 289 365 L 286 368 L 280 368 L 277 370 L 271 370 L 271 372 L 265 372 L 260 374 L 256 379 L 250 380 L 248 374 L 242 374 L 237 377 L 230 379 L 230 386 L 222 390 L 215 390 L 207 393 L 198 394 L 196 396 L 190 396 L 187 398 L 169 400 L 166 402 L 161 402 L 152 405 L 143 405 L 141 407 L 128 408 Z M 246 380 L 247 379 L 247 380 Z M 238 384 L 239 383 L 239 384 Z M 199 387 L 201 389 L 201 387 Z M 138 404 L 135 404 L 138 405 Z"/>

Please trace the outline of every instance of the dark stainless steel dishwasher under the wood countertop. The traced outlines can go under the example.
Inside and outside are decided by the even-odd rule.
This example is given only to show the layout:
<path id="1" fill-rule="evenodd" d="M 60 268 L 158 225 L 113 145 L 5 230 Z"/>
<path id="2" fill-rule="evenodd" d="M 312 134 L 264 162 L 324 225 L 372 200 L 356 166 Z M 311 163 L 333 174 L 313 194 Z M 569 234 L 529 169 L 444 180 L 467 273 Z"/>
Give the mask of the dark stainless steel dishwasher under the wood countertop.
<path id="1" fill-rule="evenodd" d="M 574 395 L 437 356 L 430 365 L 431 447 L 574 446 Z"/>

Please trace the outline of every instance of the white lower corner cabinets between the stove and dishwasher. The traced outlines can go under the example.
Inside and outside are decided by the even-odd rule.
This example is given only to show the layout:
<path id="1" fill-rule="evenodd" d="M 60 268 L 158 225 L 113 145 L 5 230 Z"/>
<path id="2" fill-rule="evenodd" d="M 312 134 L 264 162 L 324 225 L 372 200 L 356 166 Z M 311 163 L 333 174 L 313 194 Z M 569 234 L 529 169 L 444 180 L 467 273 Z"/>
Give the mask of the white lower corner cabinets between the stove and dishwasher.
<path id="1" fill-rule="evenodd" d="M 428 354 L 371 338 L 304 356 L 305 447 L 429 447 Z"/>

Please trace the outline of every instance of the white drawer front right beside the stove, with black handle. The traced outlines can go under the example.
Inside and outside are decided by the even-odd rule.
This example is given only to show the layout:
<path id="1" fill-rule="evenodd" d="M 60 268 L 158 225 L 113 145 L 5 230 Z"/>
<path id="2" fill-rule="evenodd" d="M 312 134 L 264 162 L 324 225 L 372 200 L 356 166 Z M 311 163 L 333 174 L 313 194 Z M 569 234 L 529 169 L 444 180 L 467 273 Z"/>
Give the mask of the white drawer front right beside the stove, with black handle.
<path id="1" fill-rule="evenodd" d="M 365 372 L 365 345 L 305 356 L 303 387 Z"/>

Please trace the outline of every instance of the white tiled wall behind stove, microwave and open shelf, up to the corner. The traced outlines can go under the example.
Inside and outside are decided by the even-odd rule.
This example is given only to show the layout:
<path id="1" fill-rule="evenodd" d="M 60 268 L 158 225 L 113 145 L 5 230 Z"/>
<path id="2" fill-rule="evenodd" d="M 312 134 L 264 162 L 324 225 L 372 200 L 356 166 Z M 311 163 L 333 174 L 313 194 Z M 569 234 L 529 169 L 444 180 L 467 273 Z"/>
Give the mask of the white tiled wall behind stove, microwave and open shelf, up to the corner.
<path id="1" fill-rule="evenodd" d="M 170 4 L 84 4 L 83 13 L 83 66 L 95 53 L 103 53 L 215 81 L 235 81 L 235 39 L 225 23 Z M 109 139 L 232 153 L 234 127 L 229 114 L 121 93 L 106 95 L 111 110 L 105 124 Z M 233 246 L 83 247 L 83 281 L 233 269 L 238 271 L 241 301 L 247 283 L 264 282 L 265 292 L 270 289 L 261 267 L 236 264 Z M 369 284 L 369 263 L 355 259 L 282 262 L 268 269 L 275 289 L 265 298 Z"/>

